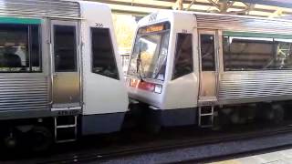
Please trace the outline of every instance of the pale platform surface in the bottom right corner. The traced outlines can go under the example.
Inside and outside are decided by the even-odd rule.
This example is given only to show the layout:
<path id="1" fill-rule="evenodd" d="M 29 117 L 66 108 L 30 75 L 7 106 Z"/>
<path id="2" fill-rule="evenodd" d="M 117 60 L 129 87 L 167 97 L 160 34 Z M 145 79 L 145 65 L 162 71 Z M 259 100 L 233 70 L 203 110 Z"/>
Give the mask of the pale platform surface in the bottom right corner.
<path id="1" fill-rule="evenodd" d="M 292 164 L 292 149 L 283 149 L 275 152 L 251 155 L 239 159 L 228 159 L 212 164 Z"/>

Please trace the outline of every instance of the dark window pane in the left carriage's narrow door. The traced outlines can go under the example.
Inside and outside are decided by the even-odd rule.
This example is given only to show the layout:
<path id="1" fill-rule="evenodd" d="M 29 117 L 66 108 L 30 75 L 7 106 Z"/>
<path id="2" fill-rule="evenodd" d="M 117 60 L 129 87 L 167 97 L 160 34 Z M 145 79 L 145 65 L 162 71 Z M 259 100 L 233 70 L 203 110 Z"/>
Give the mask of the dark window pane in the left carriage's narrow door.
<path id="1" fill-rule="evenodd" d="M 56 72 L 77 71 L 75 33 L 75 26 L 54 26 L 54 55 Z"/>

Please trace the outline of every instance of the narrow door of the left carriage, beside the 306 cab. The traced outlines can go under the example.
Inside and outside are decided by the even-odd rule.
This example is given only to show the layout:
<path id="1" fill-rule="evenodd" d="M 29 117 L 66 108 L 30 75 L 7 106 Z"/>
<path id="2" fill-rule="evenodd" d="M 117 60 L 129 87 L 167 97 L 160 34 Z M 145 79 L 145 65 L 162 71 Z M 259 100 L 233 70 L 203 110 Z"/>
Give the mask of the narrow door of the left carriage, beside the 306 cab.
<path id="1" fill-rule="evenodd" d="M 80 106 L 78 22 L 51 21 L 53 108 Z"/>

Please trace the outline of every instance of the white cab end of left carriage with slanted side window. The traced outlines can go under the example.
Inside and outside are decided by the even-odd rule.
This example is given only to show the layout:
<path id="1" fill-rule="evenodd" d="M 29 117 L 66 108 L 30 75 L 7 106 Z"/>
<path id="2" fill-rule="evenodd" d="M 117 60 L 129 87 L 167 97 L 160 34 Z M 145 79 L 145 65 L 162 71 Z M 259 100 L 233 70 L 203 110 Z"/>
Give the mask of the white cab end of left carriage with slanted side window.
<path id="1" fill-rule="evenodd" d="M 90 2 L 80 2 L 80 7 L 84 18 L 81 21 L 82 133 L 118 131 L 128 110 L 128 95 L 110 8 Z"/>

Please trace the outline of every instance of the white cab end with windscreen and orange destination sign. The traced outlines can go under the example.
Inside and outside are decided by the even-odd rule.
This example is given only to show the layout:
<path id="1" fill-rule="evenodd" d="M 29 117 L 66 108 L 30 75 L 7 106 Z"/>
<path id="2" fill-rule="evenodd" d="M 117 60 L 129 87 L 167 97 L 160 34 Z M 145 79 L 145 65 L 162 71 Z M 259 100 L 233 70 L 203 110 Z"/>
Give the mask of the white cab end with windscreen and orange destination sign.
<path id="1" fill-rule="evenodd" d="M 175 47 L 181 45 L 181 34 L 192 49 L 194 22 L 193 15 L 168 11 L 153 13 L 139 22 L 130 55 L 127 86 L 132 104 L 139 105 L 143 117 L 147 115 L 142 120 L 151 120 L 161 126 L 193 123 L 195 110 L 191 108 L 196 107 L 197 77 L 193 73 L 192 50 L 188 59 L 192 63 L 190 72 L 177 76 L 174 63 Z M 190 36 L 185 36 L 186 33 Z"/>

